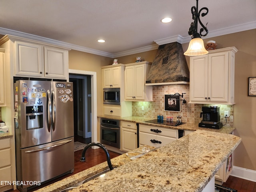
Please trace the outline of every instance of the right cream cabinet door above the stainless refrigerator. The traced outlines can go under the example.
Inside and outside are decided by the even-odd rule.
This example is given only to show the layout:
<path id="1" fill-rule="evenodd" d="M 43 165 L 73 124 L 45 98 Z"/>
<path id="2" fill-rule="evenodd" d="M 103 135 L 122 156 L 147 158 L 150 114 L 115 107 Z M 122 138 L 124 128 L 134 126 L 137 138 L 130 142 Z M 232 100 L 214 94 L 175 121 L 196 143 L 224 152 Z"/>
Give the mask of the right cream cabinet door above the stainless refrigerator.
<path id="1" fill-rule="evenodd" d="M 65 78 L 68 73 L 68 51 L 54 47 L 44 47 L 44 76 Z"/>

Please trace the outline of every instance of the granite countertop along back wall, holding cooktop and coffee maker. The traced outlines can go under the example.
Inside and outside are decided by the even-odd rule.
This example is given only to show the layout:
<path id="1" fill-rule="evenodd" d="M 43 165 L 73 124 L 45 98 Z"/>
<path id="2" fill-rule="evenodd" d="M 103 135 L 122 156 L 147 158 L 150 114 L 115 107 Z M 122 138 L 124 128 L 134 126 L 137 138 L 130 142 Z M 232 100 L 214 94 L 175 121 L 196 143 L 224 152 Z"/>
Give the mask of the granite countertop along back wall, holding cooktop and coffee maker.
<path id="1" fill-rule="evenodd" d="M 172 129 L 182 129 L 182 130 L 206 130 L 206 131 L 213 131 L 213 132 L 220 132 L 220 133 L 232 133 L 236 128 L 230 127 L 230 126 L 223 126 L 220 129 L 211 129 L 211 128 L 203 128 L 198 127 L 198 123 L 185 123 L 179 126 L 168 126 L 163 124 L 154 124 L 154 123 L 148 123 L 145 121 L 152 120 L 152 118 L 144 118 L 144 117 L 136 117 L 136 116 L 129 116 L 129 117 L 112 117 L 112 116 L 98 116 L 100 118 L 108 118 L 108 119 L 115 119 L 120 121 L 128 121 L 128 122 L 135 122 L 139 124 L 146 124 L 151 126 L 160 126 L 165 128 L 172 128 Z"/>

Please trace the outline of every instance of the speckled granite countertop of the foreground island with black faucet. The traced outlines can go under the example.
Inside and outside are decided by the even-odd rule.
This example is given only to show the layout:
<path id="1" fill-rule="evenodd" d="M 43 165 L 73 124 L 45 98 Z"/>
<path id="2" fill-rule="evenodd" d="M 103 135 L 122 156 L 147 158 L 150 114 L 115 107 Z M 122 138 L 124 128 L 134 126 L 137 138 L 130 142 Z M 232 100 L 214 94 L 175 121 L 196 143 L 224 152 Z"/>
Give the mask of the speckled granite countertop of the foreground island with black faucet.
<path id="1" fill-rule="evenodd" d="M 111 160 L 116 169 L 72 192 L 200 192 L 241 142 L 232 134 L 196 130 L 136 160 L 122 154 Z M 141 148 L 136 149 L 141 150 Z M 57 192 L 107 168 L 104 162 L 37 192 Z"/>

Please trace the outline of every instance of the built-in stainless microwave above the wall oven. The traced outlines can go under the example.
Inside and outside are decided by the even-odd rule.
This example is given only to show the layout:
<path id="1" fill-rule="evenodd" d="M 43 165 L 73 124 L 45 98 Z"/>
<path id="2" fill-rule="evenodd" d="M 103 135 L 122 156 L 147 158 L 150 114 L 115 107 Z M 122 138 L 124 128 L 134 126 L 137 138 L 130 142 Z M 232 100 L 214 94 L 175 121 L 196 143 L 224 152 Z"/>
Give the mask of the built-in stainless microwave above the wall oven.
<path id="1" fill-rule="evenodd" d="M 120 88 L 104 88 L 103 103 L 120 105 Z"/>

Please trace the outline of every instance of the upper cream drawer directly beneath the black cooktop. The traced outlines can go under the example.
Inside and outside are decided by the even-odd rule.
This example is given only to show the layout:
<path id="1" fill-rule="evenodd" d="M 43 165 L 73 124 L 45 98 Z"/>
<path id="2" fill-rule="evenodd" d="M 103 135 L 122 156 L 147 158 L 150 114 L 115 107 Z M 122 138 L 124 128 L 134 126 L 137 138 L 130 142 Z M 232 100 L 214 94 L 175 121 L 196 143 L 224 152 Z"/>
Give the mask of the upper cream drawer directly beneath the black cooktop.
<path id="1" fill-rule="evenodd" d="M 140 132 L 150 133 L 154 135 L 178 138 L 178 130 L 171 129 L 171 128 L 162 128 L 158 126 L 148 126 L 148 125 L 140 124 L 139 130 Z M 156 131 L 159 130 L 161 132 L 157 133 L 157 132 L 154 132 L 154 130 Z"/>

